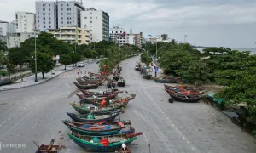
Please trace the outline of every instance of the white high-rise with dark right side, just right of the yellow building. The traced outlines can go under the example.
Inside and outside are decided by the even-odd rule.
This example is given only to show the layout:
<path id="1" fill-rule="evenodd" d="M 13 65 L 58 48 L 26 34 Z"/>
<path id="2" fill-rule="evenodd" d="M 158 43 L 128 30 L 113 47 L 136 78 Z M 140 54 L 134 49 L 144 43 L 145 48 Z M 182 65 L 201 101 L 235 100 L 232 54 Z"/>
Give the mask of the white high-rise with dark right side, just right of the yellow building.
<path id="1" fill-rule="evenodd" d="M 88 8 L 81 12 L 81 27 L 90 28 L 91 41 L 108 40 L 109 16 L 108 13 L 95 8 Z"/>

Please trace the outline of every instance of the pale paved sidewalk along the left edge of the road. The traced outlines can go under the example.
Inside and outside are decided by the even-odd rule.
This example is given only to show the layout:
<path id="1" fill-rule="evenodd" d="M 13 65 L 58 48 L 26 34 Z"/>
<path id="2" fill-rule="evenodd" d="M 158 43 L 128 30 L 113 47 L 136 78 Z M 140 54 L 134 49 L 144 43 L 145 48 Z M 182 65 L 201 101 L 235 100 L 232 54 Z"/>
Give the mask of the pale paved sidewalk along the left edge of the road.
<path id="1" fill-rule="evenodd" d="M 84 62 L 85 63 L 94 63 L 97 60 L 91 60 L 88 62 L 88 60 L 86 59 Z M 58 77 L 59 75 L 61 75 L 62 73 L 66 72 L 66 71 L 71 71 L 75 68 L 77 68 L 76 66 L 72 66 L 72 65 L 67 65 L 66 66 L 66 70 L 64 70 L 65 66 L 61 65 L 58 67 L 54 68 L 54 72 L 55 75 L 52 75 L 51 72 L 49 73 L 44 73 L 44 79 L 42 76 L 42 73 L 38 73 L 38 82 L 35 82 L 35 75 L 33 74 L 32 76 L 29 77 L 24 77 L 23 78 L 23 82 L 21 82 L 21 79 L 17 80 L 15 83 L 13 84 L 9 84 L 9 85 L 5 85 L 5 86 L 0 86 L 0 92 L 1 91 L 5 91 L 5 90 L 12 90 L 12 89 L 16 89 L 16 88 L 26 88 L 26 87 L 30 87 L 30 86 L 34 86 L 34 85 L 38 85 L 44 82 L 47 82 L 55 77 Z"/>

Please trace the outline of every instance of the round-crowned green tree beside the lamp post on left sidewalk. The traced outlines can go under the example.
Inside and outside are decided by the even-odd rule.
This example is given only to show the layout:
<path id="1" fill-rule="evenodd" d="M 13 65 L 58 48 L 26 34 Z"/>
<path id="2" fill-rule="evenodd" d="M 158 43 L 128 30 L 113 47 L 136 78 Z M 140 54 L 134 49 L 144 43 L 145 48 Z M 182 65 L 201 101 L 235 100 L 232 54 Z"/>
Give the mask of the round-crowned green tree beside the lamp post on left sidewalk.
<path id="1" fill-rule="evenodd" d="M 47 53 L 38 52 L 37 53 L 37 71 L 42 72 L 43 78 L 44 73 L 48 73 L 53 70 L 55 63 L 51 57 L 51 55 Z M 35 72 L 35 60 L 32 59 L 30 62 L 30 68 L 33 72 Z"/>

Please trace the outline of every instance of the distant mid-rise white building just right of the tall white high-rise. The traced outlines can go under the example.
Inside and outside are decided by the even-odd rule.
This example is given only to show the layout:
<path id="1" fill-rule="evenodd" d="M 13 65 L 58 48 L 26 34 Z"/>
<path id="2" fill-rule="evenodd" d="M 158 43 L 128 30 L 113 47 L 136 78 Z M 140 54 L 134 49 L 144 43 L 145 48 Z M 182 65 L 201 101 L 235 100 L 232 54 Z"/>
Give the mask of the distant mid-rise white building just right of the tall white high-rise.
<path id="1" fill-rule="evenodd" d="M 125 29 L 119 26 L 113 26 L 109 29 L 109 39 L 113 42 L 119 43 L 120 46 L 128 43 Z"/>

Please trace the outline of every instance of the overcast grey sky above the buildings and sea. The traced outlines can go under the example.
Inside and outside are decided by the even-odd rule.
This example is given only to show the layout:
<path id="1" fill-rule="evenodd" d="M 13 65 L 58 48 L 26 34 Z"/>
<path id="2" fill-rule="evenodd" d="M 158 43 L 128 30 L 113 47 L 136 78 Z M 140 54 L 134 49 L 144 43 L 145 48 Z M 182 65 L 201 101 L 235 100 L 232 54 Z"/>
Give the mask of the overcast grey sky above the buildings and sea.
<path id="1" fill-rule="evenodd" d="M 84 7 L 108 12 L 110 26 L 166 33 L 203 46 L 256 47 L 256 0 L 83 0 Z M 15 20 L 15 11 L 35 12 L 35 0 L 0 0 L 0 20 Z"/>

